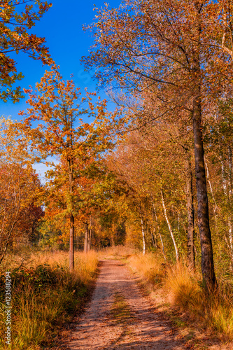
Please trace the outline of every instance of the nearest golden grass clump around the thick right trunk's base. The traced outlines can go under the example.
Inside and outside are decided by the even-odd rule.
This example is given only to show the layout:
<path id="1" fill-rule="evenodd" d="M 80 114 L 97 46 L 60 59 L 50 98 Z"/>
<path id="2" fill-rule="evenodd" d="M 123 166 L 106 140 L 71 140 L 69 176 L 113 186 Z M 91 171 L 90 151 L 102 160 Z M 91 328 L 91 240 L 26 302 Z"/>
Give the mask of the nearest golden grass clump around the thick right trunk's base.
<path id="1" fill-rule="evenodd" d="M 233 291 L 225 293 L 220 281 L 218 292 L 206 295 L 201 287 L 202 276 L 190 270 L 185 263 L 169 269 L 164 286 L 169 291 L 169 300 L 174 306 L 195 318 L 203 328 L 212 328 L 218 335 L 233 339 Z"/>

